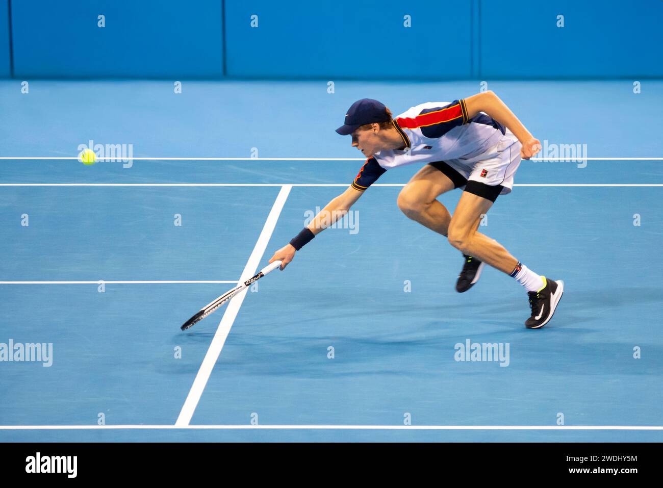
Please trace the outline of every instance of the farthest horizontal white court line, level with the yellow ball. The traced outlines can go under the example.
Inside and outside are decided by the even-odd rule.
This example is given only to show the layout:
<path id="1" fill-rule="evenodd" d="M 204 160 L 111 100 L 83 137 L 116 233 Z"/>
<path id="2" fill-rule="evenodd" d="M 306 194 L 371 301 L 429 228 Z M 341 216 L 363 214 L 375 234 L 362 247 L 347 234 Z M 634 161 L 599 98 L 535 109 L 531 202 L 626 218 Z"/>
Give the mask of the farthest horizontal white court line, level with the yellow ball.
<path id="1" fill-rule="evenodd" d="M 0 160 L 28 160 L 28 161 L 78 161 L 78 156 L 0 156 Z M 120 157 L 111 157 L 111 158 L 97 158 L 97 161 L 103 160 L 112 160 L 116 161 L 121 159 Z M 129 158 L 133 161 L 365 161 L 366 158 L 150 158 L 150 157 L 137 157 Z M 579 158 L 579 157 L 568 157 L 568 158 L 532 158 L 529 161 L 533 162 L 577 162 L 582 161 L 663 161 L 663 158 Z M 528 161 L 525 159 L 524 161 Z"/>

